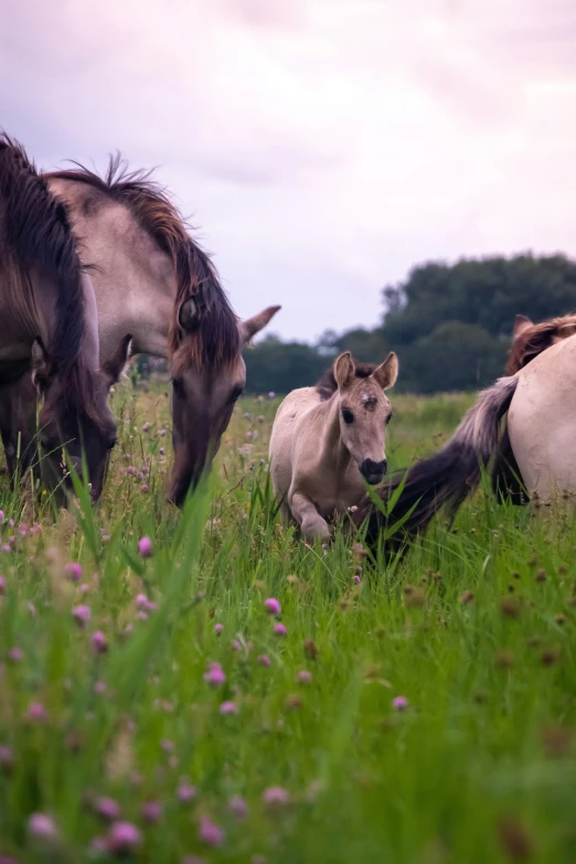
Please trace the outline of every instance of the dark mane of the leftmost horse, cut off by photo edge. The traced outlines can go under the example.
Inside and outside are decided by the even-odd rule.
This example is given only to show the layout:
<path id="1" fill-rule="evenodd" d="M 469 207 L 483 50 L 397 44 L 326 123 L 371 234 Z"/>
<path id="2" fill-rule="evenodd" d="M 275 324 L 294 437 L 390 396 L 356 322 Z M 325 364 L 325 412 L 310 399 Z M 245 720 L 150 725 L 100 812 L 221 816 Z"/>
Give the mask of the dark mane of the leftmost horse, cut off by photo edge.
<path id="1" fill-rule="evenodd" d="M 46 345 L 63 383 L 63 398 L 93 419 L 93 378 L 82 359 L 85 300 L 82 264 L 66 207 L 18 141 L 0 132 L 2 242 L 26 274 L 40 264 L 57 285 L 55 327 Z"/>

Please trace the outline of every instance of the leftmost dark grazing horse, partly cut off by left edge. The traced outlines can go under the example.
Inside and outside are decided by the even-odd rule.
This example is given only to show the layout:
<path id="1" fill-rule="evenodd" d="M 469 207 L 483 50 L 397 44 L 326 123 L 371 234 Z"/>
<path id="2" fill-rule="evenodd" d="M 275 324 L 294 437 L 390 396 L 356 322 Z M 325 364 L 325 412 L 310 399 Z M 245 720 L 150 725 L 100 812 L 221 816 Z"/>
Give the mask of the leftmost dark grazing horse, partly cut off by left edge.
<path id="1" fill-rule="evenodd" d="M 30 398 L 12 412 L 7 393 L 20 380 L 42 399 L 42 473 L 51 489 L 68 486 L 65 448 L 82 472 L 86 459 L 93 499 L 102 493 L 116 426 L 99 371 L 97 311 L 65 209 L 20 145 L 0 136 L 0 429 L 4 442 L 35 417 Z M 33 385 L 33 391 L 32 391 Z M 4 390 L 4 388 L 8 388 Z M 12 399 L 13 402 L 13 399 Z M 10 444 L 15 444 L 9 441 Z M 24 451 L 29 441 L 23 441 Z M 15 451 L 8 448 L 9 459 Z M 64 482 L 65 481 L 65 482 Z"/>

